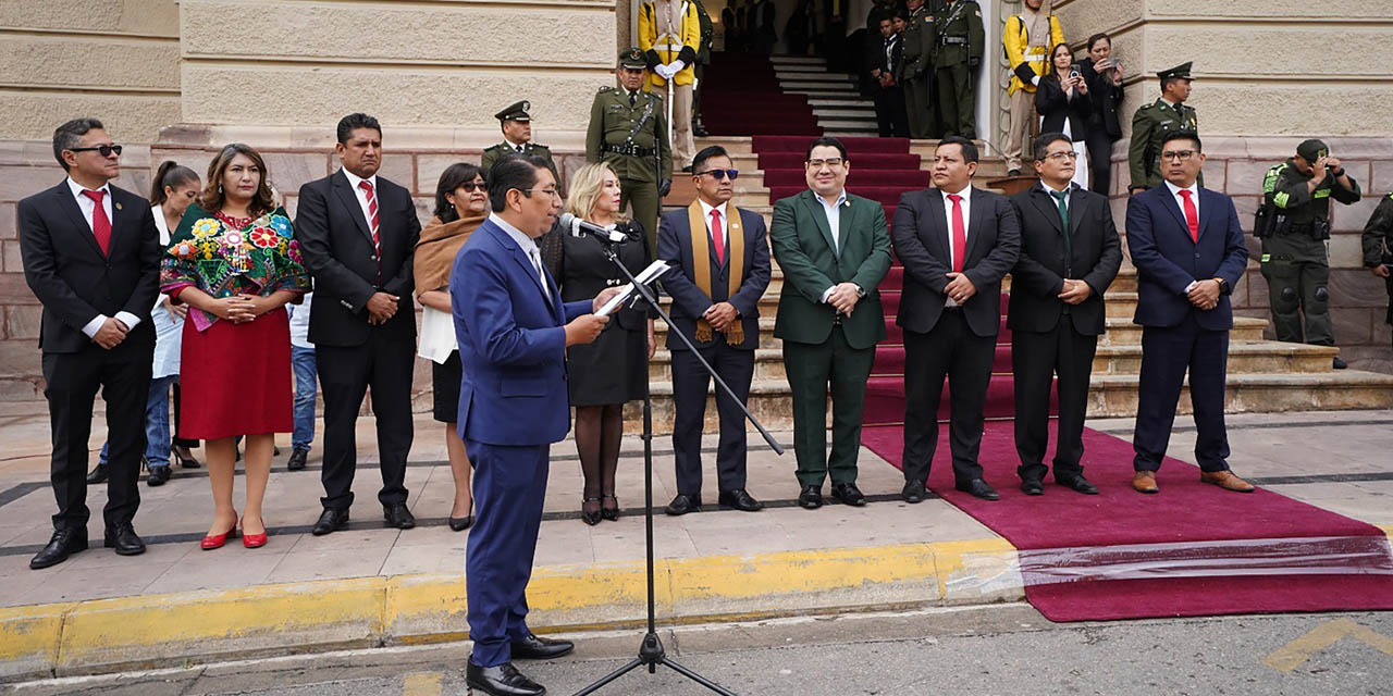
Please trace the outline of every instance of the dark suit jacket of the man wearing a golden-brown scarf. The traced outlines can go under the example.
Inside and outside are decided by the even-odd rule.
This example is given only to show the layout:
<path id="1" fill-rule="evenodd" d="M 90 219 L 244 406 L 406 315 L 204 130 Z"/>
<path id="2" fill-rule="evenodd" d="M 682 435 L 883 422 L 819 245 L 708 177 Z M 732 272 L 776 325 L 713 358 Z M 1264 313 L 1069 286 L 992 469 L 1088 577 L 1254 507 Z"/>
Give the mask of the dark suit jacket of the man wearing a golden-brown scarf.
<path id="1" fill-rule="evenodd" d="M 741 329 L 745 333 L 745 342 L 731 344 L 733 348 L 754 351 L 759 347 L 759 298 L 769 287 L 772 264 L 769 262 L 769 235 L 765 228 L 765 219 L 759 213 L 741 210 L 733 203 L 726 206 L 726 213 L 740 210 L 740 227 L 745 232 L 745 263 L 740 270 L 740 290 L 729 295 L 730 271 L 729 266 L 716 262 L 716 245 L 712 242 L 706 228 L 691 230 L 687 209 L 663 213 L 657 223 L 657 258 L 673 266 L 662 277 L 663 290 L 673 296 L 671 317 L 673 329 L 681 331 L 696 348 L 706 348 L 713 342 L 699 342 L 694 337 L 696 320 L 717 302 L 730 302 L 740 312 Z M 692 234 L 706 235 L 706 253 L 710 255 L 710 294 L 706 296 L 694 283 L 695 270 L 692 266 Z M 729 230 L 727 230 L 729 232 Z M 729 239 L 729 238 L 727 238 Z M 730 242 L 726 242 L 727 249 Z M 730 260 L 730 253 L 726 253 Z M 685 351 L 687 347 L 671 331 L 667 334 L 667 349 Z"/>

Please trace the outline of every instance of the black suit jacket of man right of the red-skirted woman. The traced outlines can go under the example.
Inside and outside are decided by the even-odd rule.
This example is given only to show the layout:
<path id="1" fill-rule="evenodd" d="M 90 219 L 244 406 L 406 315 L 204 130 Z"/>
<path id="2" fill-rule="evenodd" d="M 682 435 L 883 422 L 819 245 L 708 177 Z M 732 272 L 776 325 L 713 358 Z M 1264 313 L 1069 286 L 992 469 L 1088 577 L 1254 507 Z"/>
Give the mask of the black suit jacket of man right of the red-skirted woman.
<path id="1" fill-rule="evenodd" d="M 315 344 L 362 345 L 375 329 L 368 323 L 368 299 L 378 291 L 401 298 L 397 313 L 378 329 L 415 340 L 417 313 L 411 301 L 415 281 L 412 255 L 421 238 L 411 192 L 378 177 L 378 235 L 382 239 L 382 284 L 372 230 L 344 173 L 299 187 L 295 238 L 305 267 L 315 277 L 315 310 L 309 340 Z"/>

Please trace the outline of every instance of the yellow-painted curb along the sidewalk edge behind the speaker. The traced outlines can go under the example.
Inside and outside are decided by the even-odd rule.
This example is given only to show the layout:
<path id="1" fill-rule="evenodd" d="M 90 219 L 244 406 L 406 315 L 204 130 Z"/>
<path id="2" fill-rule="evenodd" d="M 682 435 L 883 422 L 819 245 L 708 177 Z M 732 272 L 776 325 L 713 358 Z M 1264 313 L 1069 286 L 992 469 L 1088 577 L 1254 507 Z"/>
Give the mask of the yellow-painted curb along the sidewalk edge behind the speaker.
<path id="1" fill-rule="evenodd" d="M 1018 600 L 1002 539 L 756 555 L 664 558 L 663 621 L 773 617 L 847 607 Z M 528 585 L 538 629 L 646 617 L 642 562 L 543 567 Z M 462 574 L 397 575 L 150 594 L 0 610 L 0 678 L 78 674 L 382 643 L 468 638 Z"/>

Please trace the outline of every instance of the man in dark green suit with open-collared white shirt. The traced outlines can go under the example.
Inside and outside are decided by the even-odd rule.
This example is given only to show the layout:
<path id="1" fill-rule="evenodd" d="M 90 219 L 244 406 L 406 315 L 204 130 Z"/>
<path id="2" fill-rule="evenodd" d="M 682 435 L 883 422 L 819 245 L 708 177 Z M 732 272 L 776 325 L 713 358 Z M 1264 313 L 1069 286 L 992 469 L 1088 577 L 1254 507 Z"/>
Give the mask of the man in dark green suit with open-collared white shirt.
<path id="1" fill-rule="evenodd" d="M 857 454 L 875 344 L 885 338 L 876 285 L 890 270 L 885 209 L 847 193 L 851 163 L 836 138 L 808 148 L 808 191 L 775 203 L 769 241 L 783 269 L 775 335 L 783 340 L 793 390 L 798 505 L 822 507 L 832 496 L 865 505 L 857 489 Z M 832 457 L 827 457 L 827 387 L 832 387 Z"/>

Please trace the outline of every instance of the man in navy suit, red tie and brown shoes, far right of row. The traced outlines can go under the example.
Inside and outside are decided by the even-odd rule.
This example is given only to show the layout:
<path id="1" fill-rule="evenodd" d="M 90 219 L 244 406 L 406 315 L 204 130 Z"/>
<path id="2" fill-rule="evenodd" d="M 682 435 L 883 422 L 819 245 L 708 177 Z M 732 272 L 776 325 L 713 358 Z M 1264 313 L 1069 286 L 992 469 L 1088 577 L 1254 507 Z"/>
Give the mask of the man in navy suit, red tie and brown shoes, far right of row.
<path id="1" fill-rule="evenodd" d="M 1199 479 L 1251 493 L 1229 470 L 1224 376 L 1233 308 L 1229 294 L 1248 264 L 1248 246 L 1233 199 L 1199 187 L 1205 155 L 1199 135 L 1174 131 L 1160 141 L 1163 185 L 1127 200 L 1127 248 L 1137 266 L 1141 387 L 1133 450 L 1133 487 L 1158 493 L 1156 469 L 1166 457 L 1176 402 L 1190 370 Z"/>

